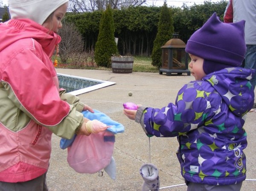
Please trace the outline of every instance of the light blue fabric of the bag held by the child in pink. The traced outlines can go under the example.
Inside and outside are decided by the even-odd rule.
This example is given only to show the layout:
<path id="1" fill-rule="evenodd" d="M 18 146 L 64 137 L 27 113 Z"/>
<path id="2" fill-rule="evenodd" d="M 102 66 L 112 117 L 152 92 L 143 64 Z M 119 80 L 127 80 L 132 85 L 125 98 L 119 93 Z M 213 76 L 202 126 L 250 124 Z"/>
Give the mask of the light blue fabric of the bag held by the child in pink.
<path id="1" fill-rule="evenodd" d="M 112 120 L 106 114 L 104 114 L 96 109 L 94 109 L 93 111 L 94 111 L 94 113 L 91 113 L 90 111 L 82 111 L 82 114 L 84 114 L 84 117 L 86 117 L 89 120 L 99 120 L 102 123 L 104 123 L 108 126 L 111 126 L 111 127 L 107 128 L 107 131 L 110 131 L 113 134 L 123 133 L 125 131 L 125 127 L 121 123 L 118 123 L 118 122 Z M 65 148 L 71 146 L 73 141 L 75 140 L 75 138 L 76 138 L 76 134 L 71 139 L 61 138 L 60 147 L 62 149 L 65 149 Z"/>

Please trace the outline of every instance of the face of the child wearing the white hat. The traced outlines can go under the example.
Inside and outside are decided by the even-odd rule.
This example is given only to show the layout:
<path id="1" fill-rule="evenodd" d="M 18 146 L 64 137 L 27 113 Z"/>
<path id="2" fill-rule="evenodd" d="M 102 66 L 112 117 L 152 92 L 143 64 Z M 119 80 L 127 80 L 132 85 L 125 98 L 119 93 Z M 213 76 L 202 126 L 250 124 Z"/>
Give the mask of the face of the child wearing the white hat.
<path id="1" fill-rule="evenodd" d="M 56 9 L 51 17 L 48 17 L 43 26 L 55 33 L 62 27 L 61 20 L 67 12 L 68 3 L 63 4 Z"/>

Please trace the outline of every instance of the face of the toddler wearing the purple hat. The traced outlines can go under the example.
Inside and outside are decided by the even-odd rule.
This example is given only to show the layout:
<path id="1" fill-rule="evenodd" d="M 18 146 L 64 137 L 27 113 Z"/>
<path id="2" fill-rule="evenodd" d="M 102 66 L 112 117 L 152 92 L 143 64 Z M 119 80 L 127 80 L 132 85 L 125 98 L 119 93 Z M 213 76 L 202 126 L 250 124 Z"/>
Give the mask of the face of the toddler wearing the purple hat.
<path id="1" fill-rule="evenodd" d="M 195 80 L 202 80 L 206 76 L 203 70 L 204 59 L 193 54 L 189 54 L 191 62 L 189 63 L 189 68 L 191 74 L 195 77 Z"/>

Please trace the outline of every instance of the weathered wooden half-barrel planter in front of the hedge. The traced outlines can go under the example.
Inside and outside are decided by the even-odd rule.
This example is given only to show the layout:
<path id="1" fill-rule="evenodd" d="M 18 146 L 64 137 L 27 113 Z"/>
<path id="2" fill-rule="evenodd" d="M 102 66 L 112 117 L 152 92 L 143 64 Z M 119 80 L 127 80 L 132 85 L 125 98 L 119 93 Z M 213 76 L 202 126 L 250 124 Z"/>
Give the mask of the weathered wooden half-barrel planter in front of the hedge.
<path id="1" fill-rule="evenodd" d="M 134 57 L 111 57 L 113 73 L 128 74 L 132 72 Z"/>

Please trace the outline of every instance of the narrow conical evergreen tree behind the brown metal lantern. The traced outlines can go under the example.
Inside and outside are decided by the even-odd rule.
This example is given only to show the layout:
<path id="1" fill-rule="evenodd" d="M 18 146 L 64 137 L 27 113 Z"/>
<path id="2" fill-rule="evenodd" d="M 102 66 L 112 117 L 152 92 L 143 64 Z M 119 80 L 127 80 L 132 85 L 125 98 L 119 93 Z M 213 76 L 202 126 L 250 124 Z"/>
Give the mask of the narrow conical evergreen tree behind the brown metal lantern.
<path id="1" fill-rule="evenodd" d="M 166 0 L 160 10 L 159 22 L 157 26 L 157 36 L 154 40 L 152 51 L 152 65 L 158 68 L 162 65 L 162 48 L 174 33 L 172 10 L 167 7 Z"/>

